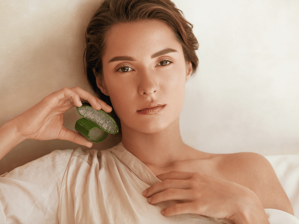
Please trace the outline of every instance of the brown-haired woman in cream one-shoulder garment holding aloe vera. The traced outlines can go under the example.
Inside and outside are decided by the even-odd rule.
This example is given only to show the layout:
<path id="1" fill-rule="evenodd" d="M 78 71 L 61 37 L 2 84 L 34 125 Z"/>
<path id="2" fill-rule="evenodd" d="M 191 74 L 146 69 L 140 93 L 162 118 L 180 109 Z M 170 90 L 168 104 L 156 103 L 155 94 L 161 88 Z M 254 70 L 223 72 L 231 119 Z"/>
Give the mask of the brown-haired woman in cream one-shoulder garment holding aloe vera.
<path id="1" fill-rule="evenodd" d="M 105 102 L 79 87 L 54 92 L 0 128 L 0 153 L 25 139 L 91 147 L 62 125 L 81 99 L 113 107 L 122 141 L 100 152 L 54 151 L 6 174 L 3 223 L 270 223 L 271 212 L 296 220 L 264 157 L 182 142 L 185 83 L 198 63 L 191 27 L 168 0 L 103 2 L 86 31 L 85 57 Z"/>

